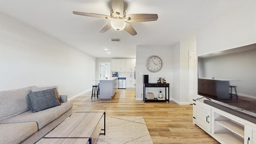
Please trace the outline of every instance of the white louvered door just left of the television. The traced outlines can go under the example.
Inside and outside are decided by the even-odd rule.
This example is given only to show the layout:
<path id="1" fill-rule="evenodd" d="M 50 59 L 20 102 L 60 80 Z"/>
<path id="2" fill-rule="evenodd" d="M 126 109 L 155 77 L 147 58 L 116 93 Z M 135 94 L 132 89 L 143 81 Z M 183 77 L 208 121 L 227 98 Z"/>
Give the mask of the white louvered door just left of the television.
<path id="1" fill-rule="evenodd" d="M 189 100 L 193 104 L 193 99 L 197 97 L 197 57 L 196 51 L 189 52 Z"/>

